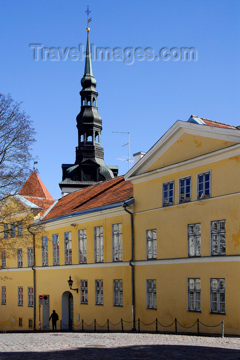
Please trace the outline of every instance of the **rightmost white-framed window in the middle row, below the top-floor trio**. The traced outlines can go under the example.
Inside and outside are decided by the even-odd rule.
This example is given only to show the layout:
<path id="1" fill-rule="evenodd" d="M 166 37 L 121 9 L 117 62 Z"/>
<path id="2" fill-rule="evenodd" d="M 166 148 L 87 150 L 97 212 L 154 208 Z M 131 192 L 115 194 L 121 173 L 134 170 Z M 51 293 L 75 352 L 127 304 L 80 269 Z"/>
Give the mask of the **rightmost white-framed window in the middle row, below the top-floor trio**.
<path id="1" fill-rule="evenodd" d="M 211 255 L 226 255 L 226 220 L 211 221 Z"/>

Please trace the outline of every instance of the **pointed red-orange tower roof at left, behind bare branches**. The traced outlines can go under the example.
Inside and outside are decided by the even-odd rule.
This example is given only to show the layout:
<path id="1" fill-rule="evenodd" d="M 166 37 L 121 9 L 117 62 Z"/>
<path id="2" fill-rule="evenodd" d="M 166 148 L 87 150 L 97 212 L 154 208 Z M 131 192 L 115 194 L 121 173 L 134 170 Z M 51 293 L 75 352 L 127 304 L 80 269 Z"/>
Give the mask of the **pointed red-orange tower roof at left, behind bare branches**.
<path id="1" fill-rule="evenodd" d="M 53 199 L 35 170 L 33 170 L 18 194 L 23 196 L 41 197 L 43 199 Z"/>

